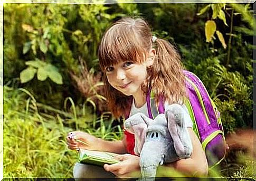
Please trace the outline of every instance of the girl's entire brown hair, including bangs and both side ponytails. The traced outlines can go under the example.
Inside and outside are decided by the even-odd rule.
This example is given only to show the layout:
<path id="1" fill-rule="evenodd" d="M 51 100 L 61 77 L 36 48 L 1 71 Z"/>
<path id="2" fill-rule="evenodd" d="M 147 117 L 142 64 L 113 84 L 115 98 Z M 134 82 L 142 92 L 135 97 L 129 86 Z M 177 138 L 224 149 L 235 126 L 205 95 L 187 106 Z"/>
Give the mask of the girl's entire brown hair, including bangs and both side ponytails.
<path id="1" fill-rule="evenodd" d="M 104 72 L 103 82 L 106 85 L 105 96 L 115 117 L 125 114 L 132 96 L 125 96 L 111 87 L 105 68 L 125 61 L 143 63 L 152 47 L 156 49 L 156 56 L 153 66 L 147 69 L 147 79 L 141 85 L 143 91 L 146 93 L 151 87 L 157 104 L 160 96 L 168 103 L 183 101 L 186 96 L 181 57 L 173 45 L 163 39 L 156 39 L 152 43 L 151 30 L 143 18 L 124 17 L 108 28 L 98 50 L 100 68 Z"/>

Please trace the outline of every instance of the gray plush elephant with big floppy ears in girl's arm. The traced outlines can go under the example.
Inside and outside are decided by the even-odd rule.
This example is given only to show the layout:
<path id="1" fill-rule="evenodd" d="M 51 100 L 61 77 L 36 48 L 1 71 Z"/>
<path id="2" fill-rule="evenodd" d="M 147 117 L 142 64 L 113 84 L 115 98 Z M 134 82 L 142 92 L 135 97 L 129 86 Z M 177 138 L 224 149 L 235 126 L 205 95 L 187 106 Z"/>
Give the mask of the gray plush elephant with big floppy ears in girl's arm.
<path id="1" fill-rule="evenodd" d="M 154 120 L 137 113 L 125 121 L 127 131 L 135 134 L 135 154 L 140 156 L 143 178 L 155 178 L 158 165 L 188 158 L 192 142 L 185 127 L 184 109 L 171 104 Z"/>

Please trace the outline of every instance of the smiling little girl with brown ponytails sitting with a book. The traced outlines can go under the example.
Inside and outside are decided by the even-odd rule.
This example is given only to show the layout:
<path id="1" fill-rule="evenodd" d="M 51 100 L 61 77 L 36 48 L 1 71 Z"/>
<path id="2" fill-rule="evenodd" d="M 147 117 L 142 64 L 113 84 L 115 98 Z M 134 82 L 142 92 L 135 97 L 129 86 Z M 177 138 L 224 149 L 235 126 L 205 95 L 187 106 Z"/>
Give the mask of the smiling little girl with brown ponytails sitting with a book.
<path id="1" fill-rule="evenodd" d="M 165 105 L 182 104 L 193 153 L 191 158 L 165 166 L 190 176 L 207 175 L 205 152 L 192 130 L 192 120 L 183 104 L 186 97 L 185 75 L 181 58 L 174 47 L 152 36 L 148 24 L 142 18 L 125 17 L 113 23 L 105 32 L 98 56 L 104 74 L 108 106 L 115 117 L 129 117 L 137 112 L 148 116 L 146 92 L 149 88 L 155 93 L 156 104 L 160 97 L 165 100 Z M 70 149 L 109 151 L 120 154 L 117 159 L 121 160 L 117 164 L 105 164 L 103 168 L 77 163 L 73 170 L 74 178 L 129 177 L 132 172 L 140 171 L 139 156 L 133 151 L 133 135 L 126 130 L 122 141 L 106 141 L 81 131 L 72 134 L 87 142 L 87 145 L 67 137 Z"/>

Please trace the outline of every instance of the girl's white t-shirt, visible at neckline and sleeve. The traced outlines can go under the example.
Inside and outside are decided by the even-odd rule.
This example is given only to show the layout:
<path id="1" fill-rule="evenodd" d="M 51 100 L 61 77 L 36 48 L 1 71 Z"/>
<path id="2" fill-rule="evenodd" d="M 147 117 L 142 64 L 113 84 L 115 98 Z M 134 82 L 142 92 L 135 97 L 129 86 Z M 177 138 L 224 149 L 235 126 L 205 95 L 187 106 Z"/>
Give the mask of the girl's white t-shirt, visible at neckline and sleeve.
<path id="1" fill-rule="evenodd" d="M 165 103 L 165 109 L 166 109 L 167 106 L 168 106 L 168 103 Z M 192 128 L 193 123 L 192 123 L 191 117 L 189 116 L 187 107 L 185 106 L 185 104 L 182 104 L 182 107 L 184 109 L 183 113 L 184 113 L 185 125 L 186 125 L 186 127 L 191 127 Z M 131 104 L 131 110 L 130 110 L 130 116 L 129 117 L 131 117 L 132 115 L 135 115 L 136 113 L 139 113 L 139 112 L 144 113 L 144 115 L 149 117 L 148 116 L 147 102 L 142 107 L 136 108 L 134 100 L 133 100 L 132 104 Z"/>

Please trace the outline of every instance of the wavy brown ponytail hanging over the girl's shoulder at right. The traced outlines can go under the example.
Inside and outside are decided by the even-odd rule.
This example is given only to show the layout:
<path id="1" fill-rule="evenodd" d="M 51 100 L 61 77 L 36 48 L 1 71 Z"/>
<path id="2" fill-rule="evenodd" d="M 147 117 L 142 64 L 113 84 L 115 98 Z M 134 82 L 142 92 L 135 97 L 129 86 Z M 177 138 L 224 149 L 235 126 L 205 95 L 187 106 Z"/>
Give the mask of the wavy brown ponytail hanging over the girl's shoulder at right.
<path id="1" fill-rule="evenodd" d="M 172 44 L 163 39 L 156 39 L 153 46 L 156 56 L 153 66 L 148 69 L 148 82 L 156 94 L 156 103 L 160 97 L 168 103 L 184 102 L 186 89 L 181 56 Z"/>

